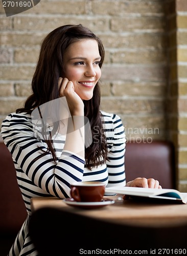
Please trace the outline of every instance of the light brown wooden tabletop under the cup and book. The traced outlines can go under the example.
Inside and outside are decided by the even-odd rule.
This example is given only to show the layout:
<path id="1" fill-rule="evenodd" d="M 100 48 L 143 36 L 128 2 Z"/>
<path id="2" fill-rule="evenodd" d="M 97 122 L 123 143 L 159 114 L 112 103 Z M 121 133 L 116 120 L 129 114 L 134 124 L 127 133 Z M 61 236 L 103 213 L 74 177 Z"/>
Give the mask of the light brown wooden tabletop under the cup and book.
<path id="1" fill-rule="evenodd" d="M 96 209 L 81 209 L 67 205 L 58 198 L 32 198 L 31 210 L 55 207 L 74 214 L 107 220 L 113 223 L 149 227 L 171 227 L 187 224 L 187 204 L 159 204 L 122 200 L 121 196 L 105 197 L 115 200 L 112 205 Z"/>

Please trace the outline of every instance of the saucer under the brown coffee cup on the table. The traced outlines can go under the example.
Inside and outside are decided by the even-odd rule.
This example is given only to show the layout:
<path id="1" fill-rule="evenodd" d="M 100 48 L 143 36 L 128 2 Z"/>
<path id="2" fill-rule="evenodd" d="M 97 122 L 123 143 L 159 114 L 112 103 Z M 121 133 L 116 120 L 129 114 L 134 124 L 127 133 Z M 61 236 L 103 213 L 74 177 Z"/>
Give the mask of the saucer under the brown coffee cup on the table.
<path id="1" fill-rule="evenodd" d="M 71 206 L 81 207 L 85 209 L 100 208 L 109 204 L 115 203 L 114 200 L 103 199 L 101 202 L 77 202 L 73 198 L 66 198 L 63 201 Z"/>

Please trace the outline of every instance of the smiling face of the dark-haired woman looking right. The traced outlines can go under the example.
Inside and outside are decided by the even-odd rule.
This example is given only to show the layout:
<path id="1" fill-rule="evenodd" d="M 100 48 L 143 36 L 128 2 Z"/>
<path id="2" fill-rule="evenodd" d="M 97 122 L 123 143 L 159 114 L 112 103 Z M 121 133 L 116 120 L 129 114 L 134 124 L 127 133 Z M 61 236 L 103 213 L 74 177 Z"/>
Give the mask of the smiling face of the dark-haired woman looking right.
<path id="1" fill-rule="evenodd" d="M 82 100 L 93 96 L 93 89 L 101 77 L 100 61 L 95 39 L 74 42 L 64 53 L 64 76 L 74 83 L 74 90 Z"/>

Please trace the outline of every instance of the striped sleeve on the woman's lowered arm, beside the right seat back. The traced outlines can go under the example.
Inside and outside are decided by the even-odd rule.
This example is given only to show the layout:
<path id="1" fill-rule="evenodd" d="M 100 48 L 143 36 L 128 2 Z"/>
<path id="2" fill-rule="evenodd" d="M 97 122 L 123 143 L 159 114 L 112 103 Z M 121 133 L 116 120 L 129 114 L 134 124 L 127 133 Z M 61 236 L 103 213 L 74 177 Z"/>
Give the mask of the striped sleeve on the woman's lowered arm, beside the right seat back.
<path id="1" fill-rule="evenodd" d="M 112 116 L 112 127 L 107 134 L 108 160 L 108 185 L 125 186 L 125 129 L 118 115 Z"/>

